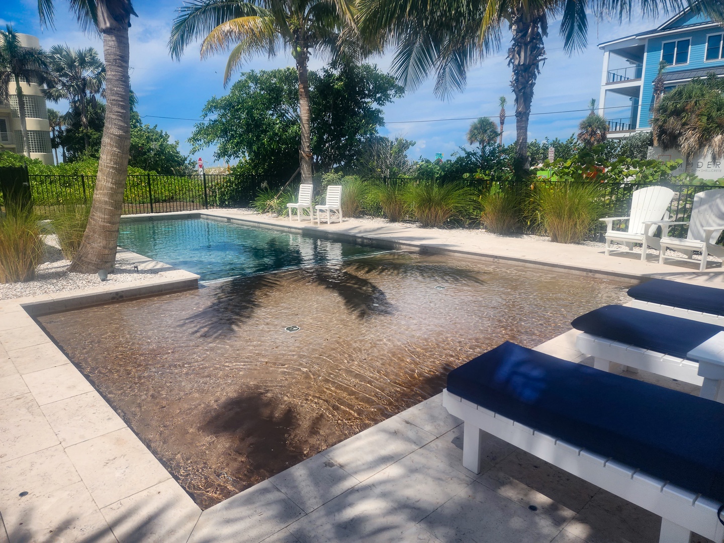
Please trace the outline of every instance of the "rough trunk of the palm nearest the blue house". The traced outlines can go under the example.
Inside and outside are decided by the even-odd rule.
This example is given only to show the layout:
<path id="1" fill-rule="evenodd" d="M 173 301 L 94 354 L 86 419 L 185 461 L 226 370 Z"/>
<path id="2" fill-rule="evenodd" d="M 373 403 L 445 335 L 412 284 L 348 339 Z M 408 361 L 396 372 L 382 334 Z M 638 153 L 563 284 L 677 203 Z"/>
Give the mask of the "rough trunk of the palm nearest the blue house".
<path id="1" fill-rule="evenodd" d="M 540 64 L 545 61 L 543 34 L 547 34 L 545 14 L 531 17 L 530 14 L 513 12 L 510 25 L 513 40 L 508 49 L 508 66 L 513 67 L 510 86 L 515 93 L 515 170 L 526 174 L 531 167 L 528 156 L 528 122 L 531 102 Z"/>

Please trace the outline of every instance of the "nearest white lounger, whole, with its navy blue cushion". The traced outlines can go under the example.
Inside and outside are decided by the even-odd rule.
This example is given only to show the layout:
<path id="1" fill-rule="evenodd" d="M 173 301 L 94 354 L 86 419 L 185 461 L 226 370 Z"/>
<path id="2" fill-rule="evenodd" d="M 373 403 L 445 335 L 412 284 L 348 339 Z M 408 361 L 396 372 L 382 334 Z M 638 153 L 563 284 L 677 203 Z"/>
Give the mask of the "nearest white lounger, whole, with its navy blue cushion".
<path id="1" fill-rule="evenodd" d="M 724 541 L 723 404 L 505 342 L 452 370 L 442 405 L 473 473 L 488 432 L 660 515 L 660 542 Z"/>

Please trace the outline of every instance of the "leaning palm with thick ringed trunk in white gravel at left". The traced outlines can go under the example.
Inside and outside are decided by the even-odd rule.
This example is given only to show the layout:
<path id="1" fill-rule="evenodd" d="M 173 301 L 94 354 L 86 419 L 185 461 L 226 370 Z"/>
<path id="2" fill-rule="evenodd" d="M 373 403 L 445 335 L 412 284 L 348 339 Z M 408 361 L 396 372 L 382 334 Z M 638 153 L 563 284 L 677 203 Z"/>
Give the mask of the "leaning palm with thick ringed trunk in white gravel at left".
<path id="1" fill-rule="evenodd" d="M 130 151 L 130 98 L 128 80 L 128 28 L 133 11 L 130 0 L 68 0 L 83 30 L 103 37 L 106 61 L 106 121 L 98 160 L 98 177 L 88 227 L 70 271 L 94 274 L 112 271 L 116 261 L 118 227 Z M 38 0 L 41 24 L 52 26 L 53 0 Z"/>

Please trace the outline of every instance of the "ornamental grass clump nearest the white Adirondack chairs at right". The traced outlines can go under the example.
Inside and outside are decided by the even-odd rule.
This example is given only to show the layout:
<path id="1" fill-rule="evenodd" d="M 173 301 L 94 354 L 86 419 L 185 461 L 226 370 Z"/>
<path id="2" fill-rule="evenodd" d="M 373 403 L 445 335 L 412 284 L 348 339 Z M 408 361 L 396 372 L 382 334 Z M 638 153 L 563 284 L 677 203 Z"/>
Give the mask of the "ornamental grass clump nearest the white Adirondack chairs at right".
<path id="1" fill-rule="evenodd" d="M 540 224 L 556 243 L 580 243 L 592 231 L 601 215 L 600 185 L 560 182 L 536 186 L 535 198 Z"/>

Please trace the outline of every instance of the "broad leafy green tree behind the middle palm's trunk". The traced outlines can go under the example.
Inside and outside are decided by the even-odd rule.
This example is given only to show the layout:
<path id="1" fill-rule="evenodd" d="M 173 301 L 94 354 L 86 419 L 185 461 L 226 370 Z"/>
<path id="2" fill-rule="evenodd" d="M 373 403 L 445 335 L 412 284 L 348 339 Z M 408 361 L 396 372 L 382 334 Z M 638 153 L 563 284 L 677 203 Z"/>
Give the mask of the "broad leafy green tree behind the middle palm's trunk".
<path id="1" fill-rule="evenodd" d="M 227 96 L 204 106 L 192 152 L 216 146 L 214 158 L 240 158 L 246 174 L 286 180 L 299 166 L 298 75 L 293 68 L 245 72 Z M 402 88 L 376 67 L 309 72 L 312 152 L 316 169 L 352 169 L 384 124 L 382 108 Z"/>

